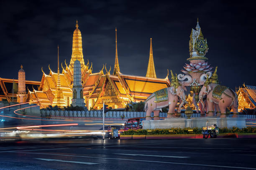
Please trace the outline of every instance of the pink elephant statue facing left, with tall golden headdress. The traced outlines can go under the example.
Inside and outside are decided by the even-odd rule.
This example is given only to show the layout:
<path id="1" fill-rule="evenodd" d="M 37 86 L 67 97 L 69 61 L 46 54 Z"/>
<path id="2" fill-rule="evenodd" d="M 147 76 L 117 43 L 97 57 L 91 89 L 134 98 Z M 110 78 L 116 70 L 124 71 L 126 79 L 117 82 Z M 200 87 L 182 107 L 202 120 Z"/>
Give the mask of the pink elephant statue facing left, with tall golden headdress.
<path id="1" fill-rule="evenodd" d="M 220 117 L 226 117 L 226 108 L 232 107 L 233 117 L 238 117 L 238 96 L 232 89 L 219 85 L 217 79 L 217 67 L 212 77 L 205 80 L 203 87 L 199 92 L 199 101 L 205 111 L 205 102 L 203 98 L 206 96 L 207 116 L 214 116 L 217 111 L 217 116 L 220 112 Z"/>

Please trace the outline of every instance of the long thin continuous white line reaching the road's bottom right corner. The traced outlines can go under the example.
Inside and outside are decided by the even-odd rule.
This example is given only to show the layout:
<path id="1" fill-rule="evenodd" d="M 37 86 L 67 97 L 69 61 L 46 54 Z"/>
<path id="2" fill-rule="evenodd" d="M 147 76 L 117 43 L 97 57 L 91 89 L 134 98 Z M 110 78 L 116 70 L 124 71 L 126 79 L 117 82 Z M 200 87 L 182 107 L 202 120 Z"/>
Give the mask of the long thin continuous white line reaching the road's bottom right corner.
<path id="1" fill-rule="evenodd" d="M 15 153 L 26 153 L 28 152 L 15 152 Z M 121 159 L 121 158 L 104 158 L 104 157 L 92 157 L 92 156 L 78 156 L 78 155 L 61 155 L 61 154 L 51 154 L 51 153 L 31 153 L 31 154 L 41 154 L 41 155 L 58 155 L 58 156 L 73 156 L 73 157 L 82 157 L 82 158 L 97 158 L 97 159 L 110 159 L 110 160 L 131 160 L 138 162 L 150 162 L 150 163 L 169 163 L 169 164 L 179 164 L 179 165 L 195 165 L 195 166 L 206 166 L 206 167 L 221 167 L 221 168 L 237 168 L 237 169 L 248 169 L 256 170 L 256 168 L 246 168 L 246 167 L 231 167 L 231 166 L 220 166 L 220 165 L 206 165 L 206 164 L 193 164 L 193 163 L 173 163 L 173 162 L 161 162 L 154 160 L 133 160 L 133 159 Z"/>

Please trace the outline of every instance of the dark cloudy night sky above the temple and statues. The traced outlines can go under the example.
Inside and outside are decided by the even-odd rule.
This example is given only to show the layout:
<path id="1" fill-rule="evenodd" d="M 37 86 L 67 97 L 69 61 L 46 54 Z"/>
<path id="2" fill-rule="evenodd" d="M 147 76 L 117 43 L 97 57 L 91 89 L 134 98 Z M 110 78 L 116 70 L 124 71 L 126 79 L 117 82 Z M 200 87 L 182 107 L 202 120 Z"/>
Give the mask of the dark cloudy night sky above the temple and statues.
<path id="1" fill-rule="evenodd" d="M 84 61 L 92 62 L 93 72 L 105 63 L 113 72 L 117 27 L 120 72 L 146 75 L 152 37 L 156 76 L 165 78 L 167 69 L 181 73 L 199 18 L 209 46 L 205 57 L 218 65 L 221 84 L 234 90 L 243 82 L 256 85 L 256 7 L 242 2 L 1 0 L 0 77 L 17 79 L 22 64 L 26 80 L 41 81 L 41 67 L 57 71 L 58 44 L 60 62 L 69 63 L 78 20 Z"/>

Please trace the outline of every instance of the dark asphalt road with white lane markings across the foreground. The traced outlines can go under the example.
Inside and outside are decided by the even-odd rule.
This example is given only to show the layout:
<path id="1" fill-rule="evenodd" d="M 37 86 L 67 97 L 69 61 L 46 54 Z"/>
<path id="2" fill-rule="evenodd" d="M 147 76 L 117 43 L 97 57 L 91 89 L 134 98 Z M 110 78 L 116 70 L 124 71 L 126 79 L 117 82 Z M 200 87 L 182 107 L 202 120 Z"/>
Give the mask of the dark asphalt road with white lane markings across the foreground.
<path id="1" fill-rule="evenodd" d="M 0 170 L 256 170 L 256 139 L 0 143 Z"/>

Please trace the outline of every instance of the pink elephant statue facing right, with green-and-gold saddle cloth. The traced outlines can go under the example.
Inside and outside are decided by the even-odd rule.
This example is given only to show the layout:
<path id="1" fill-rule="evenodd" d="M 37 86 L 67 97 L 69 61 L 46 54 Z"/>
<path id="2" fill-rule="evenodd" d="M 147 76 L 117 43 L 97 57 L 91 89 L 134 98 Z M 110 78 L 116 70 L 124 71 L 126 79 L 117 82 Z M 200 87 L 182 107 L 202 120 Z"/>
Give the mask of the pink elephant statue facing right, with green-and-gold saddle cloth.
<path id="1" fill-rule="evenodd" d="M 159 112 L 162 107 L 166 106 L 169 106 L 167 117 L 175 117 L 174 109 L 177 105 L 178 98 L 180 99 L 180 104 L 177 112 L 181 112 L 182 105 L 187 102 L 184 92 L 184 90 L 187 91 L 187 89 L 179 84 L 177 76 L 176 80 L 175 78 L 172 78 L 171 84 L 173 86 L 158 90 L 146 99 L 144 108 L 146 112 L 146 120 L 151 119 L 151 112 L 154 112 L 154 120 L 159 120 Z"/>

